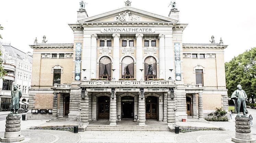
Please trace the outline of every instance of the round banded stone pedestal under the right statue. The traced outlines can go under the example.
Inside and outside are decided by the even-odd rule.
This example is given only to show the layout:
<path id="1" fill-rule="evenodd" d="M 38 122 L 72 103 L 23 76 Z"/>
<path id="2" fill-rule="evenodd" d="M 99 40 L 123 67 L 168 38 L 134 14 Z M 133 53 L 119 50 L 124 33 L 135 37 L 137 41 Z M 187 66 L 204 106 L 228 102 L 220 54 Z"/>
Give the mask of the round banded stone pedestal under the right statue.
<path id="1" fill-rule="evenodd" d="M 256 143 L 252 138 L 250 118 L 245 115 L 235 117 L 235 137 L 231 141 L 236 143 Z"/>

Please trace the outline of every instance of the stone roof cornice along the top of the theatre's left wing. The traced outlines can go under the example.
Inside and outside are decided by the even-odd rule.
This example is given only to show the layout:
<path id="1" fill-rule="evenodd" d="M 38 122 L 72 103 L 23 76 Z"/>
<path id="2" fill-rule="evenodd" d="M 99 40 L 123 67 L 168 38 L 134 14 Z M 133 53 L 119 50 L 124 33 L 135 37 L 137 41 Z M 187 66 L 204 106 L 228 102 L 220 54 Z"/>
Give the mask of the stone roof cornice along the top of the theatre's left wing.
<path id="1" fill-rule="evenodd" d="M 36 45 L 29 45 L 31 48 L 73 48 L 74 44 L 51 44 L 51 43 L 38 43 Z"/>

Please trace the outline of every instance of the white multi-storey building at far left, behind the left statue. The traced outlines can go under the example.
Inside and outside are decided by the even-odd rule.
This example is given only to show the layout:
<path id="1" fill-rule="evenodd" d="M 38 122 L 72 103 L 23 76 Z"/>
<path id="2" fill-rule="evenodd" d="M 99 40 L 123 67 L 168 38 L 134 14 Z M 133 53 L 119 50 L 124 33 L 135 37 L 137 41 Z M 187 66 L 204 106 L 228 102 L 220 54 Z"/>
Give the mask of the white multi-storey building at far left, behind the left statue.
<path id="1" fill-rule="evenodd" d="M 0 79 L 0 111 L 11 111 L 11 90 L 13 84 L 22 91 L 20 108 L 28 108 L 28 95 L 31 87 L 32 60 L 31 53 L 24 53 L 10 44 L 0 44 L 1 60 L 7 74 Z"/>

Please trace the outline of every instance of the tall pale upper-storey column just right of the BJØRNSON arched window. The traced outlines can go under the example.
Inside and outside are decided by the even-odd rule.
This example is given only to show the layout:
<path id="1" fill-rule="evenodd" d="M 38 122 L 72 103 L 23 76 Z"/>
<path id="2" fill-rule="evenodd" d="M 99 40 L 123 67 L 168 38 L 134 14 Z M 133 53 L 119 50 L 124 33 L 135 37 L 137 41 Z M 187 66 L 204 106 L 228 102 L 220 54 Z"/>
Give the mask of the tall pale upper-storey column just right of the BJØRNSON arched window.
<path id="1" fill-rule="evenodd" d="M 165 77 L 165 50 L 164 50 L 164 34 L 159 34 L 159 78 L 164 78 L 167 80 Z"/>

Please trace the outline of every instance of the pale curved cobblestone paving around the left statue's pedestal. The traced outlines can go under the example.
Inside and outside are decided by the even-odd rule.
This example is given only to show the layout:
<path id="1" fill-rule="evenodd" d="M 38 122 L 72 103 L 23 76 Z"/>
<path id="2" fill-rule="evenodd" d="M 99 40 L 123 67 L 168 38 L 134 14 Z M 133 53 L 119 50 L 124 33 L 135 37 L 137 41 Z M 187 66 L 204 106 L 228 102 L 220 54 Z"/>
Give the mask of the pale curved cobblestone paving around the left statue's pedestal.
<path id="1" fill-rule="evenodd" d="M 75 143 L 80 140 L 78 134 L 58 130 L 21 130 L 21 135 L 25 137 L 22 142 L 26 143 Z M 4 137 L 4 132 L 0 132 L 0 137 Z"/>

